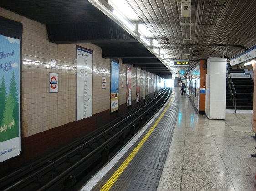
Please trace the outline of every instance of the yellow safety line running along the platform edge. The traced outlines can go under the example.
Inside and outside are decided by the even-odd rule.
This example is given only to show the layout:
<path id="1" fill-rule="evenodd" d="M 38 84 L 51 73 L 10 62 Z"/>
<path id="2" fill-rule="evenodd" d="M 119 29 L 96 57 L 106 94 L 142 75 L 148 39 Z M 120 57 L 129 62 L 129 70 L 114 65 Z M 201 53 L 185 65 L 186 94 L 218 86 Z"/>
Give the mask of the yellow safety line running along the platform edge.
<path id="1" fill-rule="evenodd" d="M 126 169 L 128 164 L 133 160 L 133 157 L 135 157 L 137 152 L 140 150 L 140 148 L 143 146 L 143 144 L 147 141 L 148 137 L 154 131 L 155 127 L 158 125 L 160 120 L 163 118 L 164 113 L 166 113 L 167 109 L 169 108 L 170 104 L 171 104 L 171 102 L 168 103 L 168 105 L 164 109 L 164 112 L 160 115 L 160 117 L 157 119 L 157 121 L 154 123 L 154 125 L 150 128 L 150 130 L 145 135 L 145 137 L 143 137 L 143 139 L 138 143 L 137 147 L 134 148 L 133 152 L 131 152 L 131 154 L 126 158 L 126 160 L 123 162 L 123 164 L 117 169 L 117 171 L 115 171 L 115 173 L 104 184 L 104 186 L 101 188 L 101 191 L 110 190 L 110 188 L 113 186 L 113 184 L 117 181 L 118 177 Z"/>

